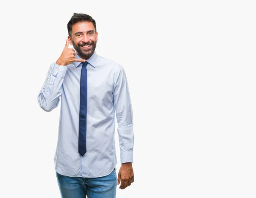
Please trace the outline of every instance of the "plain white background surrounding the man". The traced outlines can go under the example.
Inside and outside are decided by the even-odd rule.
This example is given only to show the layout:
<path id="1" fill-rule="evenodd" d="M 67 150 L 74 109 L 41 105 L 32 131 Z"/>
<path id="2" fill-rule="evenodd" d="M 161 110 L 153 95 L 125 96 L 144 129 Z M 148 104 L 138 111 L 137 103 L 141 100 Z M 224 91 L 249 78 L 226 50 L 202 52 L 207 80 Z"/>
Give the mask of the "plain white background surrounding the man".
<path id="1" fill-rule="evenodd" d="M 60 198 L 60 106 L 44 112 L 37 96 L 76 12 L 96 20 L 96 53 L 128 78 L 135 181 L 116 197 L 255 198 L 255 8 L 253 0 L 1 3 L 0 197 Z M 117 133 L 116 153 L 119 170 Z"/>

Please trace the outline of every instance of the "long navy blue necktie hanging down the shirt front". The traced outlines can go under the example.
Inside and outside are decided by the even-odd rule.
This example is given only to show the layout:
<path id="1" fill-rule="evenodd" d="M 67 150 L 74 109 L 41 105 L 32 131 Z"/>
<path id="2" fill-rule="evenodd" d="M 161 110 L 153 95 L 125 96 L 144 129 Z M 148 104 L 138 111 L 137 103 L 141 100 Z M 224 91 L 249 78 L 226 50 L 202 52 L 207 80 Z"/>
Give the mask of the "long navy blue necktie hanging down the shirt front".
<path id="1" fill-rule="evenodd" d="M 87 113 L 87 61 L 83 62 L 80 80 L 80 110 L 79 110 L 79 137 L 78 153 L 81 156 L 86 153 L 86 113 Z"/>

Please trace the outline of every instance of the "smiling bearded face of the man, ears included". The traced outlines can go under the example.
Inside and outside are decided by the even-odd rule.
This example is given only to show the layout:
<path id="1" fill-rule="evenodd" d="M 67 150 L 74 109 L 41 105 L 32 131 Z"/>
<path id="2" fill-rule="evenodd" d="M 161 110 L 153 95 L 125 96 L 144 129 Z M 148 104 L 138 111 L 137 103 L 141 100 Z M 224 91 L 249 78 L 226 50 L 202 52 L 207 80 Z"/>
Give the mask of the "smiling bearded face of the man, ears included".
<path id="1" fill-rule="evenodd" d="M 95 32 L 92 22 L 79 22 L 72 26 L 72 38 L 68 36 L 70 45 L 73 45 L 79 57 L 90 58 L 96 48 L 98 32 Z"/>

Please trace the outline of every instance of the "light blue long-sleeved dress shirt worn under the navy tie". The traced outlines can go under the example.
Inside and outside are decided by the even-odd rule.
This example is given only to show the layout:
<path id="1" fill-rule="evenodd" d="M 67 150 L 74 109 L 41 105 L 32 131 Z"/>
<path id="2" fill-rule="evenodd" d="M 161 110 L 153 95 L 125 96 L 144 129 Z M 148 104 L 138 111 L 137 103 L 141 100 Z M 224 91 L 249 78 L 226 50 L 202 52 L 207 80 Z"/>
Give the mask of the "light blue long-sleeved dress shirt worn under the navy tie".
<path id="1" fill-rule="evenodd" d="M 76 59 L 81 59 L 76 54 Z M 115 113 L 121 164 L 133 162 L 131 98 L 124 68 L 98 56 L 87 59 L 87 152 L 78 153 L 80 75 L 82 62 L 63 66 L 53 62 L 38 95 L 45 111 L 56 108 L 61 98 L 55 170 L 70 177 L 109 175 L 116 166 Z"/>

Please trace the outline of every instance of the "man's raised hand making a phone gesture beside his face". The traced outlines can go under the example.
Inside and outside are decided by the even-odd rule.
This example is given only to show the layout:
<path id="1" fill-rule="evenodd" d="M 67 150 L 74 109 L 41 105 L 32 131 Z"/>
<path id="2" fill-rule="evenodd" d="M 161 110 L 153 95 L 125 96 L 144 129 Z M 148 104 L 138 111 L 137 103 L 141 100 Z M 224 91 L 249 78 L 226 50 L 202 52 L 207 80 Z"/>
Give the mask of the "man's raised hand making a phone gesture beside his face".
<path id="1" fill-rule="evenodd" d="M 56 63 L 58 65 L 69 65 L 72 62 L 85 62 L 86 60 L 84 59 L 76 59 L 76 53 L 73 48 L 68 48 L 68 41 L 66 40 L 66 45 L 61 53 L 61 56 L 58 58 Z"/>

